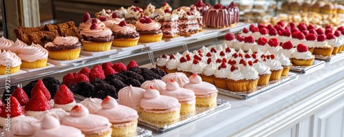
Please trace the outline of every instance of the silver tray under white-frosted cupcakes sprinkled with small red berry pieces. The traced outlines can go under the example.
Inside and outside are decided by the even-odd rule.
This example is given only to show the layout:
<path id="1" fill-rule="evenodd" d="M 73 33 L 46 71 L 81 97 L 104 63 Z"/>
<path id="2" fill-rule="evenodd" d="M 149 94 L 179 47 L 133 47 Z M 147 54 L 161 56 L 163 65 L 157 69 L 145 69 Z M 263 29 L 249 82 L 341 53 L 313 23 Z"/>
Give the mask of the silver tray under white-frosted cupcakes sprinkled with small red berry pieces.
<path id="1" fill-rule="evenodd" d="M 272 89 L 273 87 L 276 87 L 278 85 L 281 85 L 283 83 L 286 83 L 288 81 L 291 81 L 293 79 L 296 79 L 299 76 L 299 74 L 289 72 L 288 76 L 282 76 L 279 81 L 270 81 L 268 85 L 264 86 L 257 86 L 257 89 L 249 90 L 247 92 L 231 92 L 228 89 L 219 89 L 219 94 L 223 94 L 226 96 L 232 96 L 234 98 L 240 98 L 240 99 L 247 99 L 252 96 L 255 96 L 257 94 L 261 94 L 263 92 L 268 91 L 269 89 Z"/>

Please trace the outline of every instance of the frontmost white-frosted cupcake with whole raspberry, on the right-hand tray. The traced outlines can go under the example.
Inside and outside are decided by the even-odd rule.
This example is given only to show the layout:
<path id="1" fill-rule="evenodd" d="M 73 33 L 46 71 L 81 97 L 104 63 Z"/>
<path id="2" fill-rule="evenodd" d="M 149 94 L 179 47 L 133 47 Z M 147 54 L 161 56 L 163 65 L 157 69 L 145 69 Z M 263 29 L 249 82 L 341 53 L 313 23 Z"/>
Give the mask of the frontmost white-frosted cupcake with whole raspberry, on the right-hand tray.
<path id="1" fill-rule="evenodd" d="M 314 55 L 308 51 L 308 46 L 299 44 L 297 51 L 292 54 L 292 63 L 299 66 L 310 66 L 313 64 Z"/>

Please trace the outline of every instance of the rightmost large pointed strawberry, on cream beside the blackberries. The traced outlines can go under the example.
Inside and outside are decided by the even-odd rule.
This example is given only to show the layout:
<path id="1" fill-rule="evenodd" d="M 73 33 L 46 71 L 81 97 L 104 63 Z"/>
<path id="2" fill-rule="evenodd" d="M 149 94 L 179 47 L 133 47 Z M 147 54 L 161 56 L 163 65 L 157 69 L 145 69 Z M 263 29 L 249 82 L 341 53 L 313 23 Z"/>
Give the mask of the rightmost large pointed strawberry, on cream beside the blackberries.
<path id="1" fill-rule="evenodd" d="M 74 95 L 72 91 L 70 91 L 66 85 L 61 85 L 54 96 L 54 103 L 58 105 L 65 105 L 72 102 L 74 102 Z"/>

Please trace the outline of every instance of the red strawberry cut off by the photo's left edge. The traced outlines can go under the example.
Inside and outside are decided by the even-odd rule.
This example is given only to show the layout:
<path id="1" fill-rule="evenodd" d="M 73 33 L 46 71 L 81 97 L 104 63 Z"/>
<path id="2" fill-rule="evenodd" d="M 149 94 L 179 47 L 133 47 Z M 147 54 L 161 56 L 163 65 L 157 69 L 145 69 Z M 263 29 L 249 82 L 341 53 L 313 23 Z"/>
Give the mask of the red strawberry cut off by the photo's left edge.
<path id="1" fill-rule="evenodd" d="M 4 108 L 5 106 L 3 106 L 3 110 L 0 113 L 1 117 L 8 118 L 8 116 L 10 116 L 10 118 L 14 118 L 16 116 L 25 115 L 23 107 L 21 107 L 17 98 L 15 98 L 14 96 L 10 96 L 9 101 L 10 101 L 10 106 L 7 106 L 9 107 L 9 109 L 8 108 L 5 109 Z"/>

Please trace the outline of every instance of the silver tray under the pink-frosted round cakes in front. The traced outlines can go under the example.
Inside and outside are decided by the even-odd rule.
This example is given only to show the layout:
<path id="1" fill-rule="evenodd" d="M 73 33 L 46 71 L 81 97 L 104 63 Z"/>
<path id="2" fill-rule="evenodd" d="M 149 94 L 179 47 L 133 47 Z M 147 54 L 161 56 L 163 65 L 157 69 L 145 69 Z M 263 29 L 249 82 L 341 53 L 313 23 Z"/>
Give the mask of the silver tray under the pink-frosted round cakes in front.
<path id="1" fill-rule="evenodd" d="M 177 123 L 173 123 L 170 125 L 153 125 L 142 120 L 141 118 L 138 118 L 138 124 L 140 125 L 140 127 L 144 127 L 161 134 L 166 131 L 170 131 L 172 129 L 187 125 L 197 119 L 203 118 L 210 114 L 215 114 L 215 112 L 219 112 L 219 110 L 226 108 L 230 108 L 230 102 L 217 98 L 216 107 L 196 107 L 196 113 L 193 116 L 181 116 L 180 120 Z"/>

